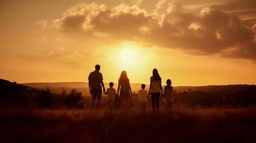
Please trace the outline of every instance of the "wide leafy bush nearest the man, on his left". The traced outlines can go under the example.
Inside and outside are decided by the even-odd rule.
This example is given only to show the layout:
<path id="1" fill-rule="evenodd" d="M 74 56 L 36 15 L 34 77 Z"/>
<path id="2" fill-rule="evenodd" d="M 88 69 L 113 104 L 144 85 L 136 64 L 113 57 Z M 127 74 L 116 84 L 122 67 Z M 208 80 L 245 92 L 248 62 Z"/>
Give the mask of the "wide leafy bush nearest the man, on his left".
<path id="1" fill-rule="evenodd" d="M 71 92 L 67 94 L 67 90 L 64 90 L 64 88 L 62 89 L 63 92 L 61 92 L 61 95 L 63 96 L 64 105 L 67 109 L 85 107 L 81 105 L 84 103 L 80 101 L 82 98 L 81 92 L 77 92 L 76 89 L 73 88 Z"/>

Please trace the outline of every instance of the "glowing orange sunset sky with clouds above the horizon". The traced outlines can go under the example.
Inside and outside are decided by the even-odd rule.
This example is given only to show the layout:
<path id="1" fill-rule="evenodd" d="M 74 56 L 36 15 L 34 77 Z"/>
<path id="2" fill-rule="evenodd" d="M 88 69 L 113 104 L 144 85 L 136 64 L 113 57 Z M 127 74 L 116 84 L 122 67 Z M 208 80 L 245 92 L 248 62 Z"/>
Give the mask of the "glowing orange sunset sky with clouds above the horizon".
<path id="1" fill-rule="evenodd" d="M 0 78 L 256 84 L 255 0 L 0 0 Z"/>

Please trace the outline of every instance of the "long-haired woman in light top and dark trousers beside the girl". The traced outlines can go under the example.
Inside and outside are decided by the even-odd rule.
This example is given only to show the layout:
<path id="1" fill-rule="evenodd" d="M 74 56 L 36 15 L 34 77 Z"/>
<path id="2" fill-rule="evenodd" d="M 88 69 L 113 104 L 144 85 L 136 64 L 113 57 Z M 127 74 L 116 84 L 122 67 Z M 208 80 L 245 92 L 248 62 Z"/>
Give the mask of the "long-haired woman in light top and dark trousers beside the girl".
<path id="1" fill-rule="evenodd" d="M 150 91 L 151 91 L 151 93 L 150 93 Z M 155 112 L 155 110 L 156 110 L 157 113 L 159 110 L 160 92 L 162 92 L 162 96 L 163 96 L 161 77 L 160 77 L 157 69 L 154 68 L 153 76 L 150 77 L 150 86 L 149 86 L 148 95 L 151 94 L 153 111 Z M 156 108 L 155 108 L 155 106 L 156 106 Z"/>

